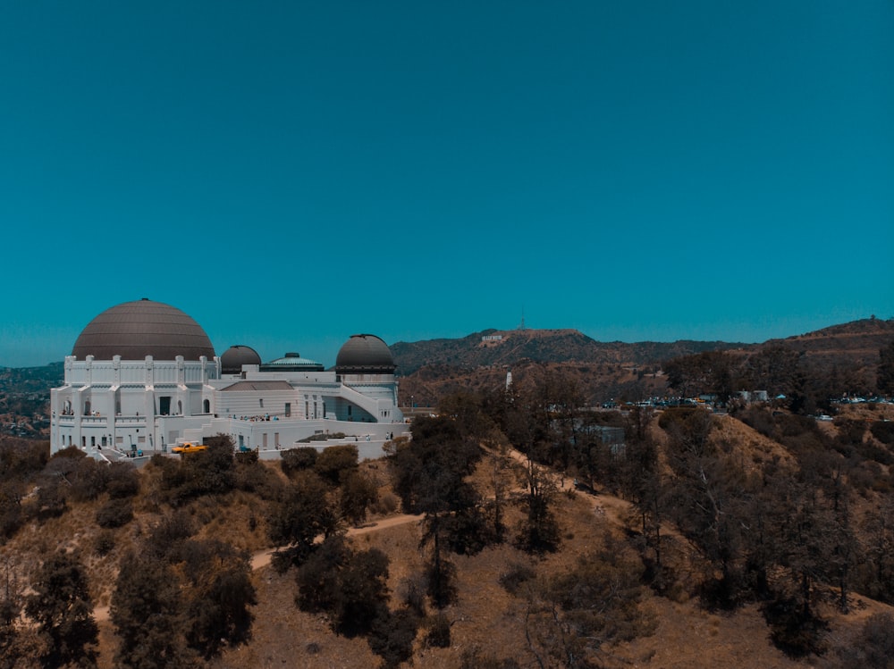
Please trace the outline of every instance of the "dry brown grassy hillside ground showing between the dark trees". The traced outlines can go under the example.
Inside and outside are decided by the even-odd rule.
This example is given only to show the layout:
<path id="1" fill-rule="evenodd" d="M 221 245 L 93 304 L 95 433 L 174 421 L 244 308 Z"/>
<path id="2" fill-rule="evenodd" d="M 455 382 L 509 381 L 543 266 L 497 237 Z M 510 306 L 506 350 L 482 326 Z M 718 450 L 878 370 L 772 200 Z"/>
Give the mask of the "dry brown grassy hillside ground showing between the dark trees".
<path id="1" fill-rule="evenodd" d="M 840 448 L 853 443 L 853 439 L 862 439 L 867 444 L 875 441 L 874 450 L 866 452 L 890 462 L 890 442 L 887 445 L 877 442 L 874 431 L 865 431 L 862 436 L 849 431 L 856 423 L 866 425 L 894 418 L 894 406 L 853 406 L 848 411 L 850 414 L 842 417 L 841 422 L 822 425 L 822 430 L 833 440 L 829 443 L 840 442 L 840 446 L 836 446 Z M 747 418 L 750 422 L 756 421 L 755 415 Z M 851 418 L 856 422 L 849 422 Z M 764 420 L 771 420 L 771 414 L 767 413 Z M 805 455 L 805 438 L 814 428 L 797 423 L 799 427 L 796 429 L 796 423 L 787 423 L 779 433 L 788 435 L 787 439 L 797 439 L 786 446 L 768 436 L 775 433 L 772 425 L 764 426 L 760 421 L 755 425 L 751 427 L 731 416 L 713 418 L 709 437 L 711 449 L 721 459 L 726 458 L 728 465 L 741 467 L 745 476 L 759 479 L 773 471 L 796 470 L 798 461 Z M 659 415 L 648 422 L 646 429 L 661 445 L 662 452 L 670 455 L 674 433 L 661 427 Z M 851 441 L 843 440 L 845 438 Z M 7 456 L 8 451 L 4 450 L 4 454 L 5 463 L 13 462 Z M 378 665 L 379 658 L 364 636 L 335 634 L 325 613 L 299 610 L 296 606 L 299 587 L 294 569 L 277 573 L 267 559 L 260 559 L 271 550 L 266 539 L 272 500 L 276 497 L 271 490 L 288 481 L 279 464 L 238 464 L 233 482 L 240 489 L 184 498 L 171 485 L 182 485 L 181 481 L 186 480 L 181 476 L 170 478 L 170 481 L 168 478 L 190 461 L 168 458 L 164 462 L 168 464 L 153 464 L 140 472 L 139 492 L 132 498 L 132 520 L 115 529 L 104 530 L 97 526 L 96 519 L 111 501 L 107 493 L 95 499 L 72 497 L 72 492 L 79 490 L 81 485 L 76 471 L 71 467 L 62 469 L 59 458 L 50 461 L 47 470 L 69 472 L 72 492 L 66 493 L 68 499 L 62 511 L 30 517 L 4 542 L 0 558 L 6 566 L 7 576 L 12 574 L 13 581 L 28 582 L 34 577 L 41 556 L 48 556 L 59 548 L 76 551 L 82 556 L 88 568 L 90 593 L 97 605 L 95 615 L 101 640 L 99 667 L 111 669 L 118 640 L 108 606 L 119 570 L 124 568 L 121 561 L 129 555 L 129 549 L 145 545 L 147 539 L 156 535 L 160 525 L 171 523 L 178 517 L 186 518 L 192 539 L 223 541 L 250 551 L 258 558 L 251 577 L 257 590 L 257 605 L 252 607 L 254 623 L 250 639 L 236 648 L 224 648 L 220 656 L 198 665 L 212 669 L 283 665 L 367 669 Z M 55 466 L 51 466 L 54 463 Z M 494 476 L 501 472 L 502 481 L 508 485 L 506 499 L 510 501 L 505 508 L 504 520 L 513 528 L 525 519 L 527 466 L 524 463 L 524 457 L 518 453 L 488 450 L 468 477 L 485 501 L 493 501 L 496 494 Z M 862 481 L 862 491 L 849 498 L 855 528 L 863 525 L 867 514 L 875 507 L 887 504 L 886 496 L 890 494 L 885 492 L 890 489 L 889 475 L 877 463 L 873 466 L 874 470 L 865 471 L 867 474 L 872 472 L 876 481 Z M 350 545 L 358 551 L 375 548 L 387 556 L 389 606 L 394 609 L 411 596 L 413 587 L 419 587 L 419 574 L 425 570 L 430 544 L 424 539 L 423 525 L 414 518 L 389 522 L 401 510 L 394 504 L 395 480 L 390 468 L 383 461 L 372 461 L 362 464 L 361 471 L 375 481 L 379 502 L 370 509 L 359 529 L 349 529 Z M 706 471 L 709 477 L 715 472 L 712 466 Z M 851 471 L 856 484 L 856 469 Z M 558 548 L 532 554 L 507 540 L 468 555 L 451 554 L 451 562 L 456 567 L 457 598 L 440 613 L 449 623 L 449 643 L 442 647 L 426 637 L 429 626 L 434 625 L 439 615 L 433 607 L 427 606 L 426 617 L 413 642 L 412 666 L 478 669 L 536 665 L 536 654 L 546 657 L 552 652 L 549 636 L 552 628 L 548 618 L 543 617 L 543 611 L 536 608 L 542 603 L 531 599 L 531 593 L 537 590 L 529 588 L 556 575 L 569 573 L 578 564 L 601 564 L 601 561 L 613 564 L 611 561 L 616 559 L 620 559 L 618 564 L 623 565 L 623 569 L 634 570 L 644 580 L 648 579 L 642 558 L 637 556 L 649 553 L 637 529 L 641 523 L 637 508 L 627 499 L 612 494 L 611 486 L 600 485 L 598 494 L 586 494 L 574 489 L 570 477 L 560 475 L 558 471 L 550 476 L 557 493 L 551 504 L 559 523 L 561 540 Z M 24 508 L 30 504 L 26 502 Z M 858 533 L 861 540 L 872 540 L 871 535 L 863 531 Z M 631 590 L 636 593 L 637 617 L 630 619 L 632 627 L 624 632 L 623 640 L 603 644 L 596 655 L 599 665 L 618 669 L 626 666 L 661 669 L 872 666 L 844 665 L 841 658 L 856 652 L 853 648 L 861 643 L 860 635 L 869 616 L 891 614 L 894 609 L 890 606 L 852 593 L 849 612 L 841 613 L 836 605 L 836 587 L 817 582 L 812 600 L 816 614 L 822 616 L 822 638 L 826 649 L 822 656 L 809 655 L 799 659 L 772 644 L 771 630 L 759 603 L 745 599 L 726 609 L 707 606 L 699 594 L 704 590 L 700 581 L 710 580 L 713 572 L 710 564 L 705 564 L 697 539 L 687 537 L 685 528 L 678 529 L 670 516 L 665 520 L 662 534 L 666 565 L 663 579 L 666 581 L 661 587 L 656 583 L 654 589 L 636 586 Z M 580 562 L 582 558 L 583 563 Z M 180 569 L 186 569 L 186 566 Z M 781 578 L 781 570 L 782 567 L 777 578 Z M 620 573 L 616 578 L 620 578 Z M 620 587 L 620 582 L 612 587 Z M 629 611 L 623 615 L 628 614 Z M 564 666 L 559 661 L 546 665 Z M 409 663 L 401 666 L 409 666 Z"/>

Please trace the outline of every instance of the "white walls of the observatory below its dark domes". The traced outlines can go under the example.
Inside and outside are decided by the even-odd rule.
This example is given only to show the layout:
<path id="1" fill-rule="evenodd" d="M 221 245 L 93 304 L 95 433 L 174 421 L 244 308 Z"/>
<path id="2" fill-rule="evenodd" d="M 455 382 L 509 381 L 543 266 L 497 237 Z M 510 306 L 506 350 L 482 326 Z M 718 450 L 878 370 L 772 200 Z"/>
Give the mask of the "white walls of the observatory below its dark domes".
<path id="1" fill-rule="evenodd" d="M 223 433 L 262 457 L 308 437 L 343 434 L 337 443 L 356 443 L 361 456 L 375 457 L 385 441 L 409 431 L 393 374 L 260 372 L 245 365 L 240 375 L 222 378 L 218 357 L 70 355 L 63 386 L 51 391 L 51 409 L 51 452 L 75 446 L 93 456 L 103 449 L 148 456 Z"/>

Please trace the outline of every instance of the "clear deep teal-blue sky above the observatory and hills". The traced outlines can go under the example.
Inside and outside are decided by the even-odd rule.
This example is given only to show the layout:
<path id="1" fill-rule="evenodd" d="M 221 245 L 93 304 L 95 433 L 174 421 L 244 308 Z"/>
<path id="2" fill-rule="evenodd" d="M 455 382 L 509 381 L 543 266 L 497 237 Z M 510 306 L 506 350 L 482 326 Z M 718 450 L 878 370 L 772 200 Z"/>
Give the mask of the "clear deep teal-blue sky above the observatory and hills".
<path id="1" fill-rule="evenodd" d="M 9 2 L 0 84 L 0 365 L 894 316 L 890 0 Z"/>

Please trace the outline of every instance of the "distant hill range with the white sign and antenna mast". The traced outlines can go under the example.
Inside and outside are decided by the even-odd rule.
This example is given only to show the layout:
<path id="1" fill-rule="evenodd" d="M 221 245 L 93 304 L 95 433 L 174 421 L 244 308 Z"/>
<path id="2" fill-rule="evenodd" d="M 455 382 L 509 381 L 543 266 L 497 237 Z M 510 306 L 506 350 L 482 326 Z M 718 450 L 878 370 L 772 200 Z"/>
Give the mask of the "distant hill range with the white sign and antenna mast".
<path id="1" fill-rule="evenodd" d="M 797 358 L 798 374 L 826 397 L 870 392 L 879 351 L 894 341 L 894 320 L 864 319 L 761 344 L 719 341 L 603 343 L 578 330 L 483 330 L 462 339 L 434 339 L 391 347 L 401 373 L 401 403 L 432 405 L 458 389 L 495 390 L 507 372 L 556 373 L 578 385 L 586 404 L 638 401 L 668 394 L 663 365 L 672 359 L 721 351 L 746 389 L 770 388 L 754 378 L 756 367 L 774 367 L 782 350 Z M 749 364 L 763 357 L 761 365 Z M 738 366 L 738 370 L 735 369 Z M 776 365 L 778 367 L 778 365 Z M 703 389 L 708 391 L 709 389 Z M 782 391 L 782 389 L 780 389 Z"/>

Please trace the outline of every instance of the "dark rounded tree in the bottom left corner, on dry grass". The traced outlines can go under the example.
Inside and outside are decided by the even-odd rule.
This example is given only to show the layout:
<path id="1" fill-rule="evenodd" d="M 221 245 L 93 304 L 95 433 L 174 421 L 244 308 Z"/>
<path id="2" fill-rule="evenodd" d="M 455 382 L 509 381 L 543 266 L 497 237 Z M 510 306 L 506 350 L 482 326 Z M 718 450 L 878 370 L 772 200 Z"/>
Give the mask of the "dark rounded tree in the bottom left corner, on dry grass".
<path id="1" fill-rule="evenodd" d="M 96 666 L 99 628 L 93 618 L 87 574 L 77 556 L 64 552 L 48 556 L 31 588 L 34 592 L 25 600 L 25 612 L 46 640 L 41 665 Z"/>

